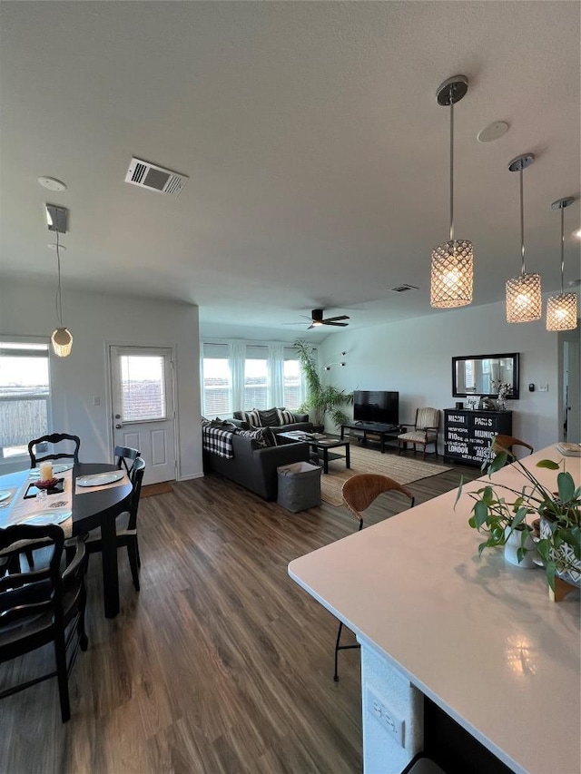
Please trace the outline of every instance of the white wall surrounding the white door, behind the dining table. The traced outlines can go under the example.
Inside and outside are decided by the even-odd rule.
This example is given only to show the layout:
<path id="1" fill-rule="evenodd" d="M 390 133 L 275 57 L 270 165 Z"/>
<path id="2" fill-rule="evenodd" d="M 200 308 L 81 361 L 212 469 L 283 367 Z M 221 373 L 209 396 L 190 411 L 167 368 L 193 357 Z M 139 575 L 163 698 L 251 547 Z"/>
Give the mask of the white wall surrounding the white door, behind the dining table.
<path id="1" fill-rule="evenodd" d="M 109 374 L 110 344 L 173 347 L 176 355 L 178 475 L 202 475 L 198 308 L 191 304 L 64 289 L 64 324 L 73 334 L 68 358 L 51 357 L 54 431 L 81 437 L 81 459 L 113 458 Z M 0 337 L 48 339 L 56 327 L 54 285 L 0 284 Z M 93 397 L 101 405 L 93 405 Z M 4 467 L 3 467 L 4 469 Z"/>

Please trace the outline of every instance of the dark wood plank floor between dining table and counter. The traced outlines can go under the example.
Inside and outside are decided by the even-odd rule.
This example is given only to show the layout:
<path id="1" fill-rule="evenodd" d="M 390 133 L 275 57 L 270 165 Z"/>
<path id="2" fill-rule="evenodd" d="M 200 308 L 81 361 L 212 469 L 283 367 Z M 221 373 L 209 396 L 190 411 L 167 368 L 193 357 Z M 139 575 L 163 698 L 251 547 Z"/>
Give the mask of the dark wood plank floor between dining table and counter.
<path id="1" fill-rule="evenodd" d="M 423 502 L 457 468 L 409 488 Z M 397 505 L 395 511 L 401 505 Z M 394 512 L 389 495 L 366 524 Z M 89 650 L 62 724 L 56 681 L 0 701 L 0 772 L 359 772 L 359 652 L 293 583 L 288 563 L 352 533 L 343 508 L 290 514 L 218 475 L 143 499 L 141 593 L 120 553 L 123 609 L 103 618 L 100 558 L 87 576 Z M 0 684 L 52 666 L 52 651 L 0 667 Z"/>

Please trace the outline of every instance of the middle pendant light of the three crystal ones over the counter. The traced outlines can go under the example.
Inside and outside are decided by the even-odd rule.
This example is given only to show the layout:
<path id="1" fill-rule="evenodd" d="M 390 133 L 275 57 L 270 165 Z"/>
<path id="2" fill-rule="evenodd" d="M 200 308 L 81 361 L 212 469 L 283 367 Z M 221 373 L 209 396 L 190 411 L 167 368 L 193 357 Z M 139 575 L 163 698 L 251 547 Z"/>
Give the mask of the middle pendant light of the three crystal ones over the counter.
<path id="1" fill-rule="evenodd" d="M 508 164 L 511 172 L 519 172 L 520 181 L 520 256 L 518 277 L 507 280 L 507 322 L 532 322 L 543 311 L 540 274 L 527 274 L 525 267 L 525 215 L 523 207 L 523 170 L 535 161 L 532 153 L 517 156 Z"/>

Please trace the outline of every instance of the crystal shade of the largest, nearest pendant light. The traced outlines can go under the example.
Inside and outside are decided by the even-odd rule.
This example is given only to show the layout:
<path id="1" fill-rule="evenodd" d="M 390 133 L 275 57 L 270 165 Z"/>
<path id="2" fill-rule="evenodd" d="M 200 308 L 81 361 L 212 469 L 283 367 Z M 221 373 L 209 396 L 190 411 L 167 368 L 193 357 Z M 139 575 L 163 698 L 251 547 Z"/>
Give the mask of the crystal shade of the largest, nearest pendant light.
<path id="1" fill-rule="evenodd" d="M 474 260 L 472 242 L 449 240 L 432 252 L 429 303 L 436 309 L 472 303 Z"/>

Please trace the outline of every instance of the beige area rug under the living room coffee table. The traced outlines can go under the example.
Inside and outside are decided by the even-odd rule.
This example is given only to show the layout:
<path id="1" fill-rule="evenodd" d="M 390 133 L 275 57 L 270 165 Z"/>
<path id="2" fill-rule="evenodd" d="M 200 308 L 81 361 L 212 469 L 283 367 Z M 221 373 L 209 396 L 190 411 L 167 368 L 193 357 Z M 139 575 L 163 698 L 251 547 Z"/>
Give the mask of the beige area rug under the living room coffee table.
<path id="1" fill-rule="evenodd" d="M 338 448 L 337 452 L 342 453 Z M 342 505 L 341 487 L 351 475 L 356 473 L 379 473 L 389 475 L 399 484 L 411 484 L 420 478 L 428 478 L 429 475 L 438 475 L 452 470 L 445 465 L 436 465 L 433 462 L 424 462 L 422 459 L 414 459 L 409 456 L 382 455 L 375 449 L 364 449 L 351 444 L 351 466 L 347 470 L 344 460 L 333 460 L 329 463 L 329 473 L 320 476 L 320 497 L 329 505 Z"/>

